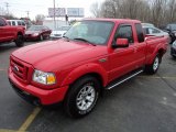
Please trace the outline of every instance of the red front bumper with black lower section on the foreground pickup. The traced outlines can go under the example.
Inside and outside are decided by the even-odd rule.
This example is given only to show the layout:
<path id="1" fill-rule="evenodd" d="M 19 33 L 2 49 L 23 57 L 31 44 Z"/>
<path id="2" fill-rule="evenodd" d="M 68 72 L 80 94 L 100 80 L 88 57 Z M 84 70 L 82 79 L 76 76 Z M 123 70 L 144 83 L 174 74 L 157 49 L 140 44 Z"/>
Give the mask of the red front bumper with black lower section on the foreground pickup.
<path id="1" fill-rule="evenodd" d="M 19 81 L 9 70 L 9 81 L 20 97 L 35 105 L 54 105 L 64 100 L 68 86 L 45 90 Z"/>

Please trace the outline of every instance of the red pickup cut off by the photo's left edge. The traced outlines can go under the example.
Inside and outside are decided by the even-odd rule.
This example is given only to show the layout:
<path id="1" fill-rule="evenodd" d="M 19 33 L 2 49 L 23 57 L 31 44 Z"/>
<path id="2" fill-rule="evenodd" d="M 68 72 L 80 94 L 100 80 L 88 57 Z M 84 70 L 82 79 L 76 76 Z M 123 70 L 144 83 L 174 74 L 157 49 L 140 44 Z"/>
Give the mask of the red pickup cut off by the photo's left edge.
<path id="1" fill-rule="evenodd" d="M 0 44 L 12 41 L 19 47 L 24 45 L 24 28 L 10 26 L 6 19 L 0 18 Z"/>

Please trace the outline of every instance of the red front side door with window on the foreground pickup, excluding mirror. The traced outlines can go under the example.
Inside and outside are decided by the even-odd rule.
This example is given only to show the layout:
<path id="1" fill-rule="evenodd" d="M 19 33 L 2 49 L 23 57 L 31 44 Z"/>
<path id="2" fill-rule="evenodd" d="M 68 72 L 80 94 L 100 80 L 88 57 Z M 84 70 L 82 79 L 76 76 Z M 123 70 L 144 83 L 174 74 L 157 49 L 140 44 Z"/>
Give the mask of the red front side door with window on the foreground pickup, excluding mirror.
<path id="1" fill-rule="evenodd" d="M 113 80 L 133 69 L 135 69 L 134 64 L 134 37 L 132 25 L 121 24 L 118 26 L 114 34 L 113 43 L 117 38 L 128 38 L 129 47 L 113 48 L 110 53 L 110 74 L 109 79 Z"/>

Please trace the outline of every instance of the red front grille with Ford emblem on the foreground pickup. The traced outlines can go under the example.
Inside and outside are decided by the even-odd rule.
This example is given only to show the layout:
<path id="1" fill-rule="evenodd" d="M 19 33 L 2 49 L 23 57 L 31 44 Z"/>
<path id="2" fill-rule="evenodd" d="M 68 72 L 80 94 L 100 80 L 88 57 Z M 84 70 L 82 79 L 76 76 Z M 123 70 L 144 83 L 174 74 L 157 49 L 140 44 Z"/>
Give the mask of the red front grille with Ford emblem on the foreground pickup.
<path id="1" fill-rule="evenodd" d="M 26 81 L 29 68 L 24 65 L 24 63 L 11 57 L 10 65 L 12 72 L 14 73 L 14 76 L 21 79 L 22 81 Z"/>

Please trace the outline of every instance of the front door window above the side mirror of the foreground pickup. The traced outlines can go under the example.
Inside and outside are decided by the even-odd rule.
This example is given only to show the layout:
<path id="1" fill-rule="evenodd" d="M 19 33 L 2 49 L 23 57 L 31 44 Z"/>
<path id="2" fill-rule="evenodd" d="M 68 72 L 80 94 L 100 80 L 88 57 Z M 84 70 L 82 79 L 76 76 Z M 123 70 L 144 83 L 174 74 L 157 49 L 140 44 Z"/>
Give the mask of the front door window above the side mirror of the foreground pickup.
<path id="1" fill-rule="evenodd" d="M 128 38 L 129 43 L 133 43 L 134 40 L 131 25 L 120 25 L 116 32 L 114 41 L 117 38 Z"/>

